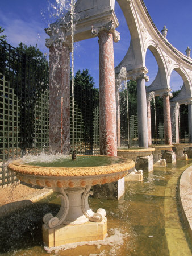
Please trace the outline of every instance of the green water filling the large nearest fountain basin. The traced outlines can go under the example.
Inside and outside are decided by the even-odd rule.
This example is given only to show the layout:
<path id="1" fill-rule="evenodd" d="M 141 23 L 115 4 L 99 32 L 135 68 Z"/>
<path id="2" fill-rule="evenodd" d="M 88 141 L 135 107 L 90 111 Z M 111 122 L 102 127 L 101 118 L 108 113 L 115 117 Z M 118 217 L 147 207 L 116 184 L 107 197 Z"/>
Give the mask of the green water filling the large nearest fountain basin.
<path id="1" fill-rule="evenodd" d="M 77 156 L 76 160 L 72 160 L 71 156 L 68 158 L 60 158 L 57 160 L 52 160 L 52 162 L 47 161 L 32 161 L 25 162 L 23 164 L 28 164 L 32 166 L 44 166 L 44 167 L 93 167 L 93 166 L 108 166 L 117 163 L 123 163 L 124 160 L 119 157 L 114 156 Z"/>

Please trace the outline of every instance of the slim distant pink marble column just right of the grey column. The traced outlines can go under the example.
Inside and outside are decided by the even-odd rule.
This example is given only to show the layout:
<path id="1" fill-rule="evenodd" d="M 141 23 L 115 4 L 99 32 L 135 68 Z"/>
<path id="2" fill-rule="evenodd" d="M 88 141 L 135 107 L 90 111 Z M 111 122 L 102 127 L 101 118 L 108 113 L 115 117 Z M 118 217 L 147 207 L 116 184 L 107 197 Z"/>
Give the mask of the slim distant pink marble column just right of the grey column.
<path id="1" fill-rule="evenodd" d="M 165 144 L 172 144 L 172 125 L 170 118 L 170 102 L 169 97 L 172 97 L 171 93 L 165 93 L 162 95 L 163 98 L 163 108 L 164 108 L 164 134 L 165 134 Z"/>

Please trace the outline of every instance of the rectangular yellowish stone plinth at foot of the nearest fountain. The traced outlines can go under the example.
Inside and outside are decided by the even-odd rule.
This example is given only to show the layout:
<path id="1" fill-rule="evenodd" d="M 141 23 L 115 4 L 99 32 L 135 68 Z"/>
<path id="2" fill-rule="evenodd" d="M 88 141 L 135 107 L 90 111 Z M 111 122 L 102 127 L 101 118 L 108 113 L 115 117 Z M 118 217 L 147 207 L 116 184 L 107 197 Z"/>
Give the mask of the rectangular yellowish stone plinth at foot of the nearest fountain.
<path id="1" fill-rule="evenodd" d="M 48 228 L 43 224 L 43 243 L 48 247 L 66 245 L 67 243 L 103 240 L 107 234 L 107 221 L 86 222 L 80 225 L 61 224 Z"/>

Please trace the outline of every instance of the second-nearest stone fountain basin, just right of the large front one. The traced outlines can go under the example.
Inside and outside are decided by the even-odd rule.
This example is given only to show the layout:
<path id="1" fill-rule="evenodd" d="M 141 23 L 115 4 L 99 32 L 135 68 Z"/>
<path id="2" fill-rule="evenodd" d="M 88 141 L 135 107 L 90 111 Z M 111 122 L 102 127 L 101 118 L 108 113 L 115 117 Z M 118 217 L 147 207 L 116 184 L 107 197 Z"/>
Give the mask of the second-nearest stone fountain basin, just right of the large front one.
<path id="1" fill-rule="evenodd" d="M 148 156 L 155 151 L 155 148 L 119 148 L 118 156 L 136 160 L 137 156 Z"/>

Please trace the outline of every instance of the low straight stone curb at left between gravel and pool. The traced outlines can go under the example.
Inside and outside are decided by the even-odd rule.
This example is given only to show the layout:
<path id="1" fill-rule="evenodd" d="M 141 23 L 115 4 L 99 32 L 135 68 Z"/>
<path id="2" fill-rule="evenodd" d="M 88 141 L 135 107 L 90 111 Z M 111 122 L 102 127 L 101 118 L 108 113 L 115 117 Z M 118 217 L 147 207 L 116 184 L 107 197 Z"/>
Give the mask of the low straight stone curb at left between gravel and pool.
<path id="1" fill-rule="evenodd" d="M 12 202 L 12 203 L 9 203 L 9 204 L 2 205 L 0 207 L 0 216 L 3 217 L 6 214 L 14 212 L 14 210 L 17 210 L 20 207 L 24 207 L 24 206 L 27 206 L 29 204 L 35 203 L 35 202 L 39 201 L 40 199 L 43 199 L 45 196 L 51 195 L 52 193 L 53 193 L 53 190 L 48 189 L 48 191 L 40 193 L 39 195 L 36 195 L 36 196 L 32 197 L 31 199 L 15 201 L 15 202 Z"/>

